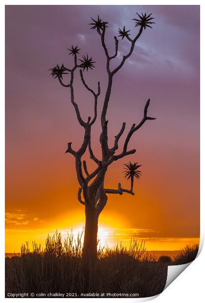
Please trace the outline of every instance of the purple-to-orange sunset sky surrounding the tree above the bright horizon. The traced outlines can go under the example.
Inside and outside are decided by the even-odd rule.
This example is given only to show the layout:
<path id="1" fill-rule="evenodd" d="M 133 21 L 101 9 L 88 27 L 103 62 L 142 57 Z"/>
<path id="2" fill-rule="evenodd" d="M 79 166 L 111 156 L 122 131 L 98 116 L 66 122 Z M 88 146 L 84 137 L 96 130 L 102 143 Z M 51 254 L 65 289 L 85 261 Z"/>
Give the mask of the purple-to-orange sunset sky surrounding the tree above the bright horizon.
<path id="1" fill-rule="evenodd" d="M 107 230 L 127 229 L 128 236 L 130 230 L 137 230 L 139 238 L 199 237 L 200 7 L 6 5 L 7 252 L 18 250 L 27 239 L 43 238 L 48 231 L 84 225 L 74 158 L 64 153 L 67 142 L 79 148 L 83 130 L 69 88 L 52 79 L 48 69 L 62 63 L 73 66 L 67 50 L 72 44 L 81 49 L 79 59 L 92 56 L 96 67 L 85 71 L 84 79 L 94 90 L 101 83 L 100 113 L 107 84 L 106 60 L 99 35 L 88 25 L 90 17 L 96 19 L 99 14 L 109 22 L 105 41 L 112 55 L 119 27 L 130 29 L 130 37 L 137 34 L 139 28 L 132 21 L 136 12 L 152 12 L 156 23 L 143 31 L 132 56 L 114 78 L 107 114 L 110 146 L 126 122 L 122 148 L 130 126 L 141 121 L 148 98 L 148 113 L 156 120 L 147 121 L 133 135 L 129 148 L 137 152 L 109 167 L 105 179 L 109 188 L 121 182 L 129 189 L 123 177 L 123 164 L 128 161 L 142 164 L 142 177 L 134 182 L 134 196 L 109 195 L 99 225 Z M 119 37 L 113 68 L 128 49 L 129 42 Z M 82 118 L 87 119 L 93 114 L 93 99 L 78 72 L 74 90 Z M 98 156 L 99 117 L 92 130 Z M 91 170 L 94 166 L 91 161 L 88 164 Z"/>

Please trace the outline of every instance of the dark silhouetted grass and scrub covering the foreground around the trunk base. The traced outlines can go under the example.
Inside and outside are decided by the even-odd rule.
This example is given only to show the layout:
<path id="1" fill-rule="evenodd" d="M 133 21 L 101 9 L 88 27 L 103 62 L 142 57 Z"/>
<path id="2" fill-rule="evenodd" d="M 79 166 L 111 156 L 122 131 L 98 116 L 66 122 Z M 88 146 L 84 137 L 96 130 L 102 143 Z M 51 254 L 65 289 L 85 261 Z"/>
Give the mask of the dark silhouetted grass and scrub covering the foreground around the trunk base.
<path id="1" fill-rule="evenodd" d="M 181 251 L 180 260 L 190 249 Z M 70 234 L 62 241 L 61 234 L 56 232 L 53 237 L 48 236 L 44 249 L 33 242 L 32 251 L 26 242 L 21 247 L 21 257 L 5 258 L 5 297 L 8 293 L 24 292 L 42 292 L 46 296 L 60 292 L 81 297 L 97 292 L 104 293 L 104 298 L 109 297 L 107 293 L 150 297 L 163 291 L 170 265 L 148 253 L 144 241 L 138 243 L 133 239 L 129 248 L 99 247 L 98 260 L 89 265 L 89 271 L 83 270 L 81 256 L 82 233 L 77 240 Z"/>

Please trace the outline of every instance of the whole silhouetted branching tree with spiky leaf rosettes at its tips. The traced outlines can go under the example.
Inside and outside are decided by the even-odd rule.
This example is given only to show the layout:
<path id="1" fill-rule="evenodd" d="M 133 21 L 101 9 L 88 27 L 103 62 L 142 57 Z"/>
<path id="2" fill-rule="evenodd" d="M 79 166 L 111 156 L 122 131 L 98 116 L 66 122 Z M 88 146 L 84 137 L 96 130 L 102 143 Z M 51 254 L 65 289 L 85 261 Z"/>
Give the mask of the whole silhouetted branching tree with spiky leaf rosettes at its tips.
<path id="1" fill-rule="evenodd" d="M 97 234 L 98 234 L 98 218 L 101 214 L 102 210 L 104 209 L 106 203 L 107 203 L 107 194 L 119 194 L 123 195 L 123 193 L 128 193 L 131 195 L 134 195 L 131 190 L 123 189 L 121 186 L 121 183 L 118 184 L 117 189 L 107 189 L 104 187 L 104 179 L 105 174 L 107 172 L 108 167 L 114 162 L 119 159 L 122 159 L 123 157 L 133 154 L 136 152 L 135 149 L 129 150 L 128 149 L 128 143 L 134 134 L 135 131 L 139 130 L 145 121 L 147 120 L 154 120 L 155 118 L 147 116 L 147 110 L 149 107 L 150 99 L 145 104 L 144 112 L 143 112 L 143 118 L 142 121 L 135 125 L 133 124 L 130 130 L 127 133 L 126 139 L 123 144 L 123 150 L 119 153 L 116 153 L 118 150 L 118 142 L 125 130 L 125 122 L 123 122 L 121 130 L 119 133 L 115 136 L 114 145 L 110 148 L 108 146 L 108 137 L 107 137 L 107 126 L 108 126 L 108 120 L 106 120 L 106 113 L 107 113 L 107 107 L 110 99 L 110 94 L 112 90 L 112 83 L 113 78 L 115 74 L 121 69 L 121 67 L 124 65 L 125 61 L 131 56 L 136 41 L 140 38 L 141 34 L 143 33 L 143 29 L 145 30 L 146 27 L 151 27 L 150 24 L 154 23 L 152 20 L 154 19 L 151 17 L 151 14 L 146 16 L 146 14 L 139 15 L 137 14 L 138 19 L 133 19 L 135 21 L 135 27 L 139 26 L 139 31 L 134 39 L 131 39 L 128 34 L 129 31 L 125 30 L 125 26 L 123 27 L 123 30 L 119 29 L 119 36 L 126 38 L 128 42 L 130 43 L 130 50 L 129 52 L 123 56 L 123 59 L 121 63 L 115 67 L 113 70 L 110 69 L 110 61 L 115 59 L 118 55 L 118 44 L 119 41 L 117 37 L 114 37 L 115 40 L 115 53 L 114 55 L 110 56 L 107 50 L 107 46 L 105 43 L 105 32 L 106 28 L 108 27 L 108 22 L 103 22 L 100 17 L 98 16 L 97 20 L 92 19 L 92 25 L 91 29 L 94 29 L 97 31 L 101 38 L 102 48 L 104 49 L 104 53 L 106 56 L 106 71 L 107 71 L 107 77 L 108 77 L 108 84 L 106 88 L 106 93 L 104 96 L 103 101 L 103 108 L 101 112 L 101 127 L 102 132 L 100 135 L 100 144 L 102 149 L 102 158 L 98 159 L 92 150 L 91 147 L 91 128 L 96 122 L 97 119 L 97 105 L 98 105 L 98 97 L 101 93 L 100 83 L 98 82 L 98 88 L 97 92 L 95 92 L 92 88 L 90 88 L 84 80 L 83 77 L 83 71 L 88 69 L 93 69 L 95 67 L 95 62 L 93 61 L 92 57 L 88 57 L 88 54 L 86 56 L 82 56 L 82 59 L 79 59 L 80 63 L 77 62 L 77 57 L 79 55 L 80 49 L 78 46 L 73 46 L 68 49 L 70 51 L 70 55 L 74 57 L 74 66 L 73 68 L 67 68 L 63 64 L 61 66 L 56 65 L 53 68 L 50 68 L 51 75 L 53 78 L 57 78 L 60 82 L 60 84 L 63 87 L 67 87 L 70 89 L 70 99 L 73 107 L 75 108 L 76 116 L 79 121 L 79 124 L 84 129 L 84 139 L 82 142 L 81 147 L 79 150 L 75 151 L 72 148 L 72 142 L 68 143 L 66 153 L 70 153 L 75 158 L 75 165 L 76 165 L 76 173 L 78 182 L 80 184 L 80 188 L 78 191 L 78 200 L 80 203 L 82 203 L 85 207 L 85 231 L 84 231 L 84 242 L 83 242 L 83 255 L 82 257 L 84 259 L 93 259 L 97 257 Z M 74 100 L 74 88 L 73 88 L 73 82 L 74 82 L 74 74 L 76 73 L 77 69 L 80 69 L 80 77 L 82 80 L 83 86 L 93 95 L 94 98 L 94 116 L 91 119 L 91 117 L 88 117 L 87 121 L 82 120 L 82 116 L 78 107 L 78 104 Z M 63 83 L 63 75 L 66 73 L 70 73 L 70 82 L 68 84 Z M 82 157 L 86 150 L 89 150 L 90 158 L 96 163 L 97 167 L 94 171 L 91 173 L 87 169 L 86 161 L 82 160 Z M 84 172 L 83 172 L 84 170 Z M 88 185 L 89 183 L 89 185 Z M 83 195 L 83 198 L 82 198 Z"/>

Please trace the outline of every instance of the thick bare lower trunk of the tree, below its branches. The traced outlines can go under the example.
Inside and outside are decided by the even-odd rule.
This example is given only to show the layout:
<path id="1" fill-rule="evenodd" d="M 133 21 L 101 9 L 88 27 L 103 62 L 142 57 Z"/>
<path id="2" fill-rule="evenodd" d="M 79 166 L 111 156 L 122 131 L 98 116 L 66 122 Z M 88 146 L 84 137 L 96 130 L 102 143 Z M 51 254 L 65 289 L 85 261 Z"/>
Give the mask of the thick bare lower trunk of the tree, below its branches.
<path id="1" fill-rule="evenodd" d="M 85 203 L 85 231 L 82 259 L 97 259 L 98 213 L 91 203 Z"/>

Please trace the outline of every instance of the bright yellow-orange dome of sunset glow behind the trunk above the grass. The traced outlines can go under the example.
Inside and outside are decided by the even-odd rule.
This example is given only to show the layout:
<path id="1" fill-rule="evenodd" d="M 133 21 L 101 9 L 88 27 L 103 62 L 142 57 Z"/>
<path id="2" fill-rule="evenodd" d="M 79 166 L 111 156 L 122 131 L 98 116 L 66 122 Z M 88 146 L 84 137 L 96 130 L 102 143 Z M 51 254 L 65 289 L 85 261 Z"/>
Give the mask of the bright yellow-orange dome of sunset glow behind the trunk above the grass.
<path id="1" fill-rule="evenodd" d="M 7 215 L 9 220 L 15 221 L 15 218 L 19 221 L 25 219 L 21 222 L 21 229 L 17 224 L 16 229 L 6 229 L 6 245 L 5 252 L 13 253 L 21 251 L 21 244 L 26 241 L 29 242 L 29 247 L 32 250 L 32 241 L 36 241 L 44 247 L 45 239 L 47 235 L 53 236 L 56 231 L 56 226 L 58 226 L 58 232 L 61 232 L 62 239 L 67 237 L 67 233 L 72 233 L 74 238 L 77 238 L 78 232 L 82 231 L 84 226 L 84 213 L 83 209 L 73 210 L 68 214 L 63 216 L 58 216 L 52 222 L 39 222 L 38 217 L 34 217 L 35 222 L 39 222 L 41 228 L 37 229 L 26 229 L 27 224 L 24 214 L 20 212 L 15 214 Z M 14 224 L 14 222 L 13 222 Z M 99 219 L 99 230 L 98 237 L 100 239 L 100 245 L 113 247 L 116 244 L 122 243 L 124 246 L 129 247 L 130 239 L 135 238 L 138 241 L 145 240 L 145 247 L 147 250 L 179 250 L 186 244 L 198 243 L 199 238 L 182 238 L 182 237 L 162 237 L 158 235 L 154 230 L 150 229 L 136 229 L 127 228 L 128 222 L 122 215 L 117 215 L 115 213 L 102 213 Z M 83 241 L 83 237 L 82 237 Z"/>

